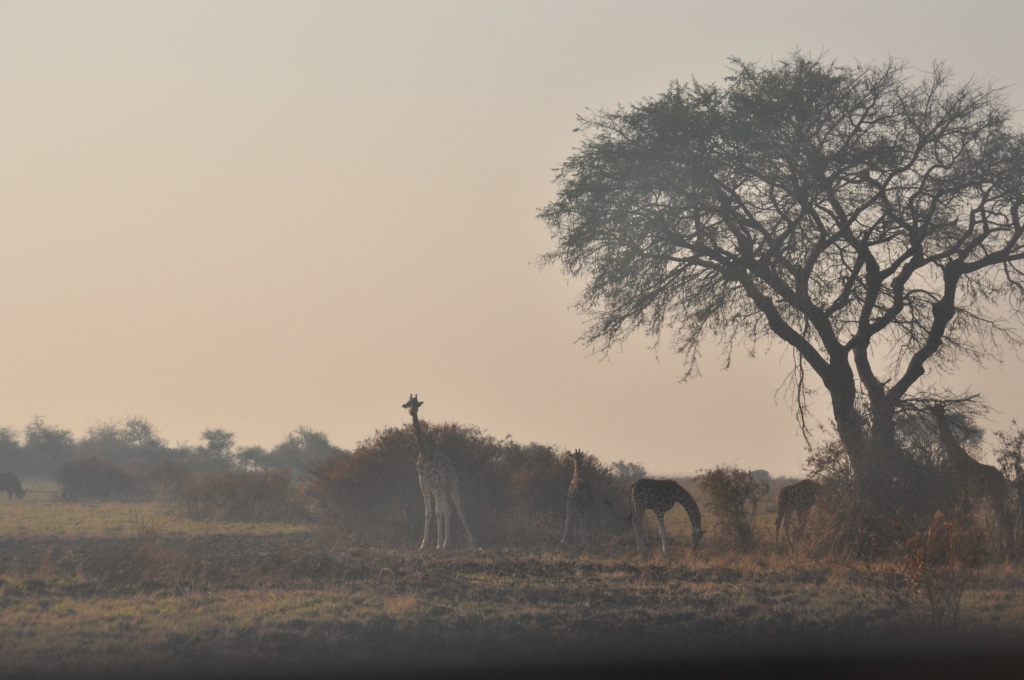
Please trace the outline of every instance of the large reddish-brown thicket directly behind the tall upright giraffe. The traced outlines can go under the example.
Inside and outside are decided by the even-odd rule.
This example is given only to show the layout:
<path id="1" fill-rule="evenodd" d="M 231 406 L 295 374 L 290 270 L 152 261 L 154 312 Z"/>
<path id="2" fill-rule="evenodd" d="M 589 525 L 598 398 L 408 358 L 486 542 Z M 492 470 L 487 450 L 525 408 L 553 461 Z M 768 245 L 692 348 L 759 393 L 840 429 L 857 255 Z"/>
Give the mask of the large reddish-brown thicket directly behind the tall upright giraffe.
<path id="1" fill-rule="evenodd" d="M 422 421 L 421 425 L 452 460 L 466 519 L 478 543 L 508 547 L 558 543 L 572 478 L 572 462 L 565 452 L 499 441 L 472 426 Z M 424 510 L 418 456 L 412 426 L 378 431 L 351 455 L 311 465 L 308 494 L 322 517 L 344 529 L 350 540 L 377 546 L 418 545 Z M 584 474 L 594 498 L 588 540 L 594 546 L 615 542 L 630 530 L 629 483 L 593 457 L 585 459 Z M 452 524 L 452 540 L 457 546 L 467 545 L 454 507 Z M 431 521 L 430 545 L 435 532 Z"/>

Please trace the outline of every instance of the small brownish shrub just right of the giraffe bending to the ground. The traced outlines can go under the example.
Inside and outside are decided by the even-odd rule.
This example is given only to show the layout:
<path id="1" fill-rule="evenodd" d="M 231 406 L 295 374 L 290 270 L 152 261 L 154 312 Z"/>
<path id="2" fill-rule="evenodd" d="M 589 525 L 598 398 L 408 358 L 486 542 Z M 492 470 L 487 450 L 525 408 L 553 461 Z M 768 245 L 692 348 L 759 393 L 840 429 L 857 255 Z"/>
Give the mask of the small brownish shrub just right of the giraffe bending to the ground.
<path id="1" fill-rule="evenodd" d="M 748 470 L 717 467 L 697 475 L 700 491 L 708 496 L 708 505 L 718 519 L 718 525 L 742 548 L 753 547 L 754 519 L 758 504 L 768 493 L 768 482 L 759 481 Z"/>

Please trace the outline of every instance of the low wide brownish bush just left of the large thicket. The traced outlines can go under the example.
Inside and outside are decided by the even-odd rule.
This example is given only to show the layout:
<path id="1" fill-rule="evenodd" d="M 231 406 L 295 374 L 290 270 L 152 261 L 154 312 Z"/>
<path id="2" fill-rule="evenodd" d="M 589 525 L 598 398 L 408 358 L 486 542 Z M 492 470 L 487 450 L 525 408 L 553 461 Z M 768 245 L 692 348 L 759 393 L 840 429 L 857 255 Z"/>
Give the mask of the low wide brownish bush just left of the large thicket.
<path id="1" fill-rule="evenodd" d="M 305 504 L 288 470 L 234 470 L 187 477 L 178 504 L 189 519 L 303 521 Z"/>

